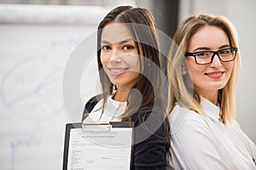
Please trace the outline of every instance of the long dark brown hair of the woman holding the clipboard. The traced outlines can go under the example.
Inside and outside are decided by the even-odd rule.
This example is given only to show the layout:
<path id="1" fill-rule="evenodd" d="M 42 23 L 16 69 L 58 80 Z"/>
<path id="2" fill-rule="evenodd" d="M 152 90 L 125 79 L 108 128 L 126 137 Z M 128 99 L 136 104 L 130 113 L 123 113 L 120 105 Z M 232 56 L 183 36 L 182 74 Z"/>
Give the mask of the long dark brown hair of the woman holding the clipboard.
<path id="1" fill-rule="evenodd" d="M 134 42 L 136 42 L 138 54 L 143 56 L 140 57 L 141 71 L 138 82 L 127 96 L 127 109 L 120 117 L 121 121 L 143 123 L 148 118 L 146 117 L 148 112 L 157 114 L 156 116 L 160 117 L 160 120 L 151 118 L 153 122 L 150 121 L 149 124 L 156 124 L 155 127 L 160 127 L 164 123 L 166 138 L 170 144 L 170 126 L 166 116 L 166 103 L 162 95 L 162 78 L 165 77 L 163 77 L 164 74 L 160 69 L 158 32 L 152 14 L 145 8 L 119 6 L 110 11 L 98 26 L 97 63 L 102 84 L 102 113 L 108 96 L 114 92 L 114 85 L 103 71 L 101 63 L 102 29 L 111 22 L 122 23 L 127 26 Z"/>

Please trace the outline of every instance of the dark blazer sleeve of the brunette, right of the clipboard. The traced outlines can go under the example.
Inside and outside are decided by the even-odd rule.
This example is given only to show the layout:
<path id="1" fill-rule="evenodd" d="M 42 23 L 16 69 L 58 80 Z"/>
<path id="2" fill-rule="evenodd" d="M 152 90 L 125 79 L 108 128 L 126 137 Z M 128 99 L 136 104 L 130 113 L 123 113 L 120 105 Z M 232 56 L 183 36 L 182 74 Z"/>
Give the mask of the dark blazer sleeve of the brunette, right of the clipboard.
<path id="1" fill-rule="evenodd" d="M 153 113 L 152 113 L 153 114 Z M 154 120 L 154 122 L 152 122 Z M 165 123 L 159 115 L 150 116 L 145 122 L 136 122 L 131 169 L 166 169 L 169 144 Z"/>

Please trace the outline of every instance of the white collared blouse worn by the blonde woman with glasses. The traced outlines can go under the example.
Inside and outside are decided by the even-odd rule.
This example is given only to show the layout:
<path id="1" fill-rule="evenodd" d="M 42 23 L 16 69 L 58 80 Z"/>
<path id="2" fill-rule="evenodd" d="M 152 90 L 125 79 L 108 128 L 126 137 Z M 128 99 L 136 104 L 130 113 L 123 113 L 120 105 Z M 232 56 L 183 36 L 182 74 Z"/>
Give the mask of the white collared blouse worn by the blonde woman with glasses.
<path id="1" fill-rule="evenodd" d="M 256 169 L 256 145 L 239 124 L 219 122 L 218 106 L 207 99 L 202 99 L 201 105 L 204 116 L 180 105 L 169 116 L 172 157 L 182 169 Z"/>

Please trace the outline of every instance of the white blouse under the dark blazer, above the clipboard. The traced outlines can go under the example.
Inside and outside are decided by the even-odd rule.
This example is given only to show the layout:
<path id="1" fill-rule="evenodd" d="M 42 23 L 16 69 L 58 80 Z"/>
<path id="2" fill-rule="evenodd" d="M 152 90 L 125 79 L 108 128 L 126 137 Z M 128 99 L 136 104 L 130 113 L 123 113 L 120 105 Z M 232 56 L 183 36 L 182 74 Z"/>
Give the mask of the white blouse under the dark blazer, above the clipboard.
<path id="1" fill-rule="evenodd" d="M 102 104 L 101 99 L 90 112 L 89 116 L 84 119 L 84 122 L 119 122 L 119 116 L 121 116 L 126 109 L 126 102 L 119 102 L 112 99 L 109 96 L 104 108 L 102 115 Z M 102 117 L 101 117 L 102 116 Z"/>

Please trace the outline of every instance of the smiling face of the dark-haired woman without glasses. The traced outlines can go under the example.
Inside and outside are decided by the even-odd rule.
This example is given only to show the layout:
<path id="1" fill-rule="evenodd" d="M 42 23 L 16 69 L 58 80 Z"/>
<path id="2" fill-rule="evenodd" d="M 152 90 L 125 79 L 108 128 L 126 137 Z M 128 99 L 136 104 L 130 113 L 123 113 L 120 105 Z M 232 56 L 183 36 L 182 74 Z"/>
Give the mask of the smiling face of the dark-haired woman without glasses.
<path id="1" fill-rule="evenodd" d="M 131 88 L 137 83 L 140 59 L 136 42 L 125 26 L 111 22 L 102 30 L 101 62 L 110 81 L 120 87 Z"/>

